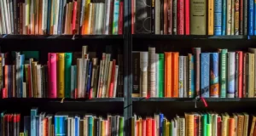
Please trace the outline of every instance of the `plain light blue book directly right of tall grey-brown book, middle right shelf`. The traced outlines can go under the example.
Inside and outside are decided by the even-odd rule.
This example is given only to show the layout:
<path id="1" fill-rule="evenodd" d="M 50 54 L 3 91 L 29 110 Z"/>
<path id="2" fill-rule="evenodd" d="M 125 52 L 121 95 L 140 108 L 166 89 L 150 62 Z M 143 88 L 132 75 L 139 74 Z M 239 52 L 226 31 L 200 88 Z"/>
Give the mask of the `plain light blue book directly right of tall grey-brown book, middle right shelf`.
<path id="1" fill-rule="evenodd" d="M 201 53 L 201 96 L 209 98 L 210 53 Z"/>

